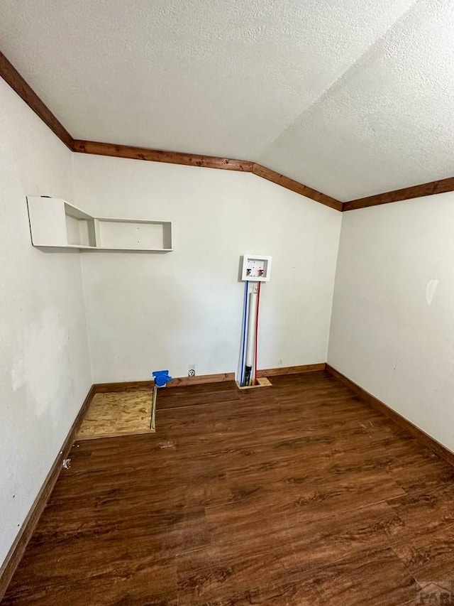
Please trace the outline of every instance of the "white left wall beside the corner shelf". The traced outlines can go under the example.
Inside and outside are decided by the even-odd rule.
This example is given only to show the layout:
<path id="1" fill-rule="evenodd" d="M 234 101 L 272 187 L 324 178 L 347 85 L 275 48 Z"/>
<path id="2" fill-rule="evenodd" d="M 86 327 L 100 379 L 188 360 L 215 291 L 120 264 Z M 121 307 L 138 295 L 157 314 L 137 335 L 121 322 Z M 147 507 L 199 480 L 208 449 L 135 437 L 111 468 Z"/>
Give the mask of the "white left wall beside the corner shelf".
<path id="1" fill-rule="evenodd" d="M 72 199 L 72 156 L 0 79 L 0 563 L 91 384 L 80 261 L 31 246 L 26 195 Z"/>

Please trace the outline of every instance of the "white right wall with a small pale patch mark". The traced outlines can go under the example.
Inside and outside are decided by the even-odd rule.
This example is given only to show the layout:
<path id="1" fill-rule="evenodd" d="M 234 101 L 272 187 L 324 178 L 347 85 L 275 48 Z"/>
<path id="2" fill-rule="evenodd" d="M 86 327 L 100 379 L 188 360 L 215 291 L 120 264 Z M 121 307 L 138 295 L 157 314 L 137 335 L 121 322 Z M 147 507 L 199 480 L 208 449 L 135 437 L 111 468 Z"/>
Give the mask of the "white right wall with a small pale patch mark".
<path id="1" fill-rule="evenodd" d="M 454 450 L 454 193 L 343 213 L 328 362 Z"/>

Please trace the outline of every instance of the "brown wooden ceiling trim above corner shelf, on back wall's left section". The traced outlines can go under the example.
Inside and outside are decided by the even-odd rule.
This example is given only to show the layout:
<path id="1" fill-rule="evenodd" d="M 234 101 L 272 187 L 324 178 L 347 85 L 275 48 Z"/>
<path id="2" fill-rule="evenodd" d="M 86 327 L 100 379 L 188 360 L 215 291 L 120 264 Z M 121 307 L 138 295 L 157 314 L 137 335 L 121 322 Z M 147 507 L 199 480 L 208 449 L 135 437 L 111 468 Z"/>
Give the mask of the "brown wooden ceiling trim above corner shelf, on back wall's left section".
<path id="1" fill-rule="evenodd" d="M 247 160 L 233 160 L 216 156 L 201 156 L 196 153 L 181 151 L 165 151 L 130 145 L 101 143 L 100 141 L 74 140 L 74 151 L 78 153 L 94 153 L 97 156 L 114 156 L 115 158 L 132 158 L 150 162 L 165 162 L 169 164 L 184 164 L 202 168 L 222 168 L 226 171 L 252 172 L 253 163 Z"/>

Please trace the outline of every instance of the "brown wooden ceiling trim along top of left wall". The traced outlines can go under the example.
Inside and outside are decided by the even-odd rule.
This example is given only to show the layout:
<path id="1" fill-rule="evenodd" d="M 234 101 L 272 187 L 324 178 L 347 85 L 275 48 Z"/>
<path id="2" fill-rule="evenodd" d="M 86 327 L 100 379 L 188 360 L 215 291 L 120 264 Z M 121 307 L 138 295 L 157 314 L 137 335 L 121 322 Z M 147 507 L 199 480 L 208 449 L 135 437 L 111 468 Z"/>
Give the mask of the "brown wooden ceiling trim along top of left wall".
<path id="1" fill-rule="evenodd" d="M 26 102 L 28 107 L 33 109 L 35 114 L 38 114 L 40 119 L 48 125 L 50 130 L 63 141 L 63 143 L 73 149 L 73 139 L 65 126 L 52 114 L 47 105 L 41 101 L 40 97 L 35 93 L 30 85 L 23 79 L 21 74 L 16 70 L 3 53 L 0 52 L 0 76 L 5 80 L 11 88 Z"/>

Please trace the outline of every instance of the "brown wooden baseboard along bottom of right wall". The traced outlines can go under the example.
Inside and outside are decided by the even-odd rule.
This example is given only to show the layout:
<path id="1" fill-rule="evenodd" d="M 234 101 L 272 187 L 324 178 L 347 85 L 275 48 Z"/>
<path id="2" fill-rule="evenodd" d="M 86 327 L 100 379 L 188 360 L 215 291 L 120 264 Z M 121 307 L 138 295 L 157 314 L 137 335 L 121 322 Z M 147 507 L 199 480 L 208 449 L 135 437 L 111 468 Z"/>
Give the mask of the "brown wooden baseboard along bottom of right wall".
<path id="1" fill-rule="evenodd" d="M 408 421 L 406 418 L 394 411 L 392 408 L 389 408 L 387 404 L 384 404 L 384 402 L 380 401 L 375 396 L 372 396 L 372 394 L 370 394 L 368 391 L 362 389 L 362 387 L 360 387 L 358 384 L 348 379 L 348 377 L 345 377 L 345 374 L 338 372 L 338 370 L 336 370 L 329 364 L 326 364 L 326 370 L 330 374 L 332 374 L 333 377 L 336 377 L 336 379 L 350 387 L 350 389 L 354 391 L 355 394 L 360 396 L 360 398 L 366 401 L 367 404 L 370 404 L 370 406 L 373 406 L 373 408 L 377 408 L 378 411 L 391 418 L 392 421 L 394 421 L 394 423 L 397 423 L 397 425 L 404 429 L 404 431 L 408 431 L 409 433 L 411 433 L 411 435 L 414 435 L 417 440 L 427 446 L 427 448 L 433 450 L 433 452 L 436 453 L 436 455 L 438 455 L 440 458 L 450 463 L 450 465 L 454 465 L 454 453 L 445 446 L 443 446 L 443 444 L 437 442 L 437 440 L 432 438 L 431 435 L 428 435 L 425 431 L 423 431 L 419 427 L 416 427 L 416 425 L 411 423 L 411 421 Z"/>

